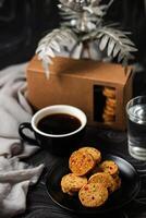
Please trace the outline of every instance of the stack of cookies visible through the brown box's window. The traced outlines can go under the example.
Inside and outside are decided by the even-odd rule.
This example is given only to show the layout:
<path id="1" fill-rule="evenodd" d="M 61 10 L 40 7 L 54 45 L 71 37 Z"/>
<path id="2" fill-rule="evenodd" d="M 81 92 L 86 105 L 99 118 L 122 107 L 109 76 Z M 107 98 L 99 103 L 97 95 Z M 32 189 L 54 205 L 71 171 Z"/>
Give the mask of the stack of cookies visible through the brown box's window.
<path id="1" fill-rule="evenodd" d="M 111 124 L 115 120 L 115 89 L 112 87 L 105 87 L 102 95 L 106 96 L 106 105 L 102 113 L 105 124 Z"/>

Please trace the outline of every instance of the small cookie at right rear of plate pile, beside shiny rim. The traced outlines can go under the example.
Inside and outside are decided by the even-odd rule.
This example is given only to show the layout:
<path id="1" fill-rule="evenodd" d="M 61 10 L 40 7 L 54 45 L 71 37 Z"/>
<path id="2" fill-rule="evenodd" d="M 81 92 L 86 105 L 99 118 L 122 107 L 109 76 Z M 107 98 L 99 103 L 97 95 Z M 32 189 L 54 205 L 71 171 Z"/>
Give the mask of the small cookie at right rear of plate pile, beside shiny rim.
<path id="1" fill-rule="evenodd" d="M 99 165 L 99 171 L 107 172 L 111 175 L 119 173 L 118 165 L 112 160 L 105 160 Z"/>

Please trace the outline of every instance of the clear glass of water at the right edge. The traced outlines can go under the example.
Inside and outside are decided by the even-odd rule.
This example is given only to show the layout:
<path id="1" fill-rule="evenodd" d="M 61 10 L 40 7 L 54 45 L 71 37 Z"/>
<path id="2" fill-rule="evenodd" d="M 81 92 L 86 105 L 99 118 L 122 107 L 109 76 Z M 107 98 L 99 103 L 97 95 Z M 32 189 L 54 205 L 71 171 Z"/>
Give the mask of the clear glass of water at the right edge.
<path id="1" fill-rule="evenodd" d="M 127 146 L 132 157 L 146 160 L 146 96 L 138 96 L 126 104 Z"/>

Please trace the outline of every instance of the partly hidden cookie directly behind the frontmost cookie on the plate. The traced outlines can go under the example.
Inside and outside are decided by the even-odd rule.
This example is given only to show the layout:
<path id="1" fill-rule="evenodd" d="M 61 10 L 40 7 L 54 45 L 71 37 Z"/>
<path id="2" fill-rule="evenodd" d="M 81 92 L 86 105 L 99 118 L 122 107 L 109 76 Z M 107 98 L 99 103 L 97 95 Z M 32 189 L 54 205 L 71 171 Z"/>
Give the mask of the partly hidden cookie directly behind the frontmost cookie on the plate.
<path id="1" fill-rule="evenodd" d="M 113 185 L 113 178 L 109 173 L 97 172 L 88 179 L 88 183 L 99 183 L 108 189 Z"/>

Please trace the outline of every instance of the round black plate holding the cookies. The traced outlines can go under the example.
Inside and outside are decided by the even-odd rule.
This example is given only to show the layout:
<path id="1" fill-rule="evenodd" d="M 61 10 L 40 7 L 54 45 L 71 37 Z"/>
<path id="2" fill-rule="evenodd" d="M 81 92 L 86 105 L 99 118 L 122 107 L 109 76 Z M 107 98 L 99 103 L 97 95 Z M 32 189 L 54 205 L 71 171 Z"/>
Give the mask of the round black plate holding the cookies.
<path id="1" fill-rule="evenodd" d="M 84 207 L 77 196 L 69 196 L 61 191 L 61 178 L 70 172 L 68 161 L 56 165 L 47 174 L 47 189 L 52 201 L 66 210 L 94 215 L 119 209 L 134 199 L 141 185 L 138 174 L 134 167 L 118 156 L 107 155 L 105 159 L 113 160 L 119 166 L 122 185 L 109 196 L 108 201 L 102 206 L 97 208 Z"/>

